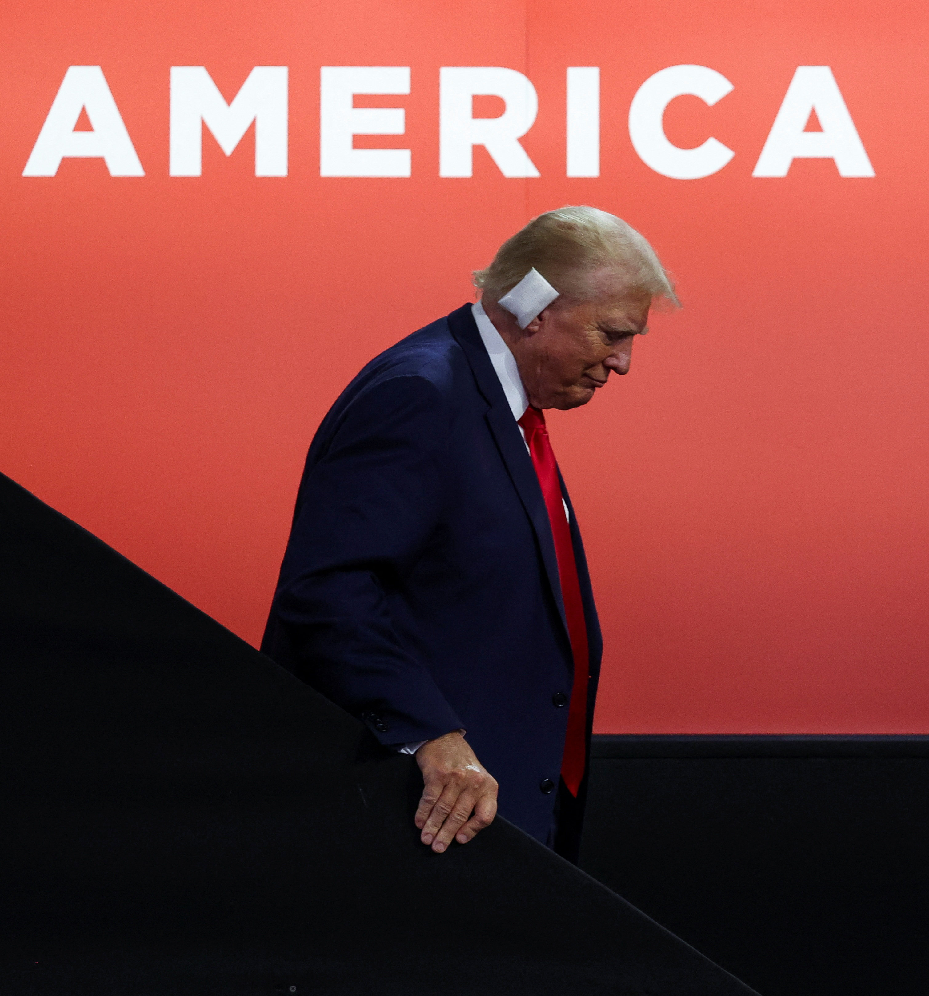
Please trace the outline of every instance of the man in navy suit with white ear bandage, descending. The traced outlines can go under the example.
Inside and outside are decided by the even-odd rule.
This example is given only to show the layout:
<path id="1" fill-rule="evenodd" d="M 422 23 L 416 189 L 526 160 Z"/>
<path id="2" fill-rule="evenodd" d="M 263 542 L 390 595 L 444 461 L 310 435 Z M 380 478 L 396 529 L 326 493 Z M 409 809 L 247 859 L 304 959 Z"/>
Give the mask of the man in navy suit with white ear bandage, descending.
<path id="1" fill-rule="evenodd" d="M 499 789 L 576 861 L 601 642 L 542 411 L 626 373 L 675 298 L 645 239 L 589 207 L 534 219 L 475 284 L 320 425 L 262 649 L 415 754 L 434 852 L 490 824 Z"/>

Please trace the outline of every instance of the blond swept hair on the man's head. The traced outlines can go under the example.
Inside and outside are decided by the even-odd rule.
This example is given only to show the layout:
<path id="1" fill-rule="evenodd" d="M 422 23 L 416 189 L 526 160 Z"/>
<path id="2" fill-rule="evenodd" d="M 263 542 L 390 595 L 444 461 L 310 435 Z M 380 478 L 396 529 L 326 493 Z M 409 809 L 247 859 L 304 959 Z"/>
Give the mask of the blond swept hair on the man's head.
<path id="1" fill-rule="evenodd" d="M 497 250 L 493 262 L 473 273 L 482 299 L 499 301 L 535 268 L 569 301 L 596 297 L 589 277 L 613 269 L 630 293 L 679 304 L 674 287 L 645 238 L 614 214 L 596 207 L 562 207 L 540 214 Z"/>

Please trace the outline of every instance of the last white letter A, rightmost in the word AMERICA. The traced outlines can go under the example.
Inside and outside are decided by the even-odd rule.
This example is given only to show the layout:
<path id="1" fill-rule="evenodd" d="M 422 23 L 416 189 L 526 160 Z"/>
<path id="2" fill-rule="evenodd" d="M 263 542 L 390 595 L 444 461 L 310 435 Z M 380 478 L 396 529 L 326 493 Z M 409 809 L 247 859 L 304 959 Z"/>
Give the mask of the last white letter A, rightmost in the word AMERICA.
<path id="1" fill-rule="evenodd" d="M 805 131 L 816 113 L 821 131 Z M 753 176 L 787 176 L 795 159 L 833 159 L 839 176 L 873 176 L 828 66 L 798 66 Z"/>

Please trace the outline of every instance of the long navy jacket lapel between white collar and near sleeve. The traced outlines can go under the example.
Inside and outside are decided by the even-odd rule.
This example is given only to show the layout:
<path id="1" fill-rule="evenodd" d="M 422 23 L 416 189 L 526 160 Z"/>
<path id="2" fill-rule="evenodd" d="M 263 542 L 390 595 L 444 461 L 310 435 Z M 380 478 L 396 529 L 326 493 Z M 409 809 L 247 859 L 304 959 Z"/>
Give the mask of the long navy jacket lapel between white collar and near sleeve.
<path id="1" fill-rule="evenodd" d="M 567 637 L 568 622 L 565 618 L 562 585 L 558 575 L 555 540 L 552 538 L 549 513 L 545 507 L 545 498 L 542 496 L 542 488 L 539 485 L 539 478 L 536 476 L 532 457 L 526 449 L 522 433 L 513 418 L 513 411 L 507 401 L 506 394 L 503 392 L 500 379 L 494 371 L 487 350 L 484 349 L 481 334 L 478 332 L 474 316 L 471 314 L 471 306 L 465 305 L 457 311 L 453 311 L 448 316 L 448 325 L 452 335 L 468 358 L 478 389 L 490 405 L 485 417 L 513 485 L 536 532 L 542 562 Z"/>

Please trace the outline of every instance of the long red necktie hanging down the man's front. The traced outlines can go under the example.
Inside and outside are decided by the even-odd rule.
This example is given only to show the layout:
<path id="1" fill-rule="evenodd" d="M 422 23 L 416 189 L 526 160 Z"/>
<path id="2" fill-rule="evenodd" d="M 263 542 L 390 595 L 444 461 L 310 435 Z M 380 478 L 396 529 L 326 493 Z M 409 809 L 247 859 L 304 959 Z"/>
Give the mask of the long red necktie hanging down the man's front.
<path id="1" fill-rule="evenodd" d="M 558 478 L 558 463 L 545 427 L 545 415 L 530 405 L 520 419 L 526 433 L 536 475 L 542 487 L 552 537 L 555 540 L 555 555 L 558 558 L 558 576 L 562 583 L 562 601 L 565 603 L 565 618 L 568 621 L 568 635 L 571 638 L 571 652 L 575 661 L 575 679 L 571 692 L 571 705 L 568 709 L 568 735 L 565 739 L 565 755 L 562 760 L 562 779 L 573 796 L 578 795 L 583 778 L 586 755 L 587 725 L 587 623 L 583 616 L 581 585 L 578 582 L 578 567 L 575 563 L 575 548 L 571 542 L 571 527 L 565 512 L 562 486 Z"/>

